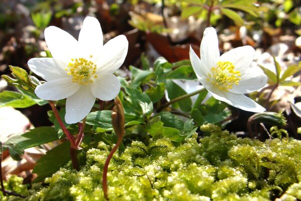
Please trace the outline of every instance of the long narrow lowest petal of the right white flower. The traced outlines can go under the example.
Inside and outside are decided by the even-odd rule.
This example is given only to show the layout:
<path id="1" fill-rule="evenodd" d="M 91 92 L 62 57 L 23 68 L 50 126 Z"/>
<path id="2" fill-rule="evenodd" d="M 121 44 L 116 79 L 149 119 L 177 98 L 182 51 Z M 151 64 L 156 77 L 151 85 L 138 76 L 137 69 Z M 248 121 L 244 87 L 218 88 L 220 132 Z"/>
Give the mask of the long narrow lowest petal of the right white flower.
<path id="1" fill-rule="evenodd" d="M 243 94 L 220 91 L 216 88 L 207 88 L 207 90 L 214 98 L 221 100 L 235 108 L 254 113 L 262 113 L 265 111 L 262 106 Z"/>

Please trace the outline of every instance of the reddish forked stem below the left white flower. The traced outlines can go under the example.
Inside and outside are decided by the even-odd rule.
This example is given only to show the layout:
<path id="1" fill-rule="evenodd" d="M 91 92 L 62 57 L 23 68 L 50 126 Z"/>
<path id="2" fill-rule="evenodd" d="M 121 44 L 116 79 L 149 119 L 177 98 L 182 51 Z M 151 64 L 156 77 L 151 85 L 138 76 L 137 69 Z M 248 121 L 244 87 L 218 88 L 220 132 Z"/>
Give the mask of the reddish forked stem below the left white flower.
<path id="1" fill-rule="evenodd" d="M 70 141 L 70 157 L 71 157 L 71 161 L 72 161 L 72 167 L 74 169 L 76 169 L 77 171 L 79 171 L 79 165 L 78 165 L 78 159 L 77 159 L 77 150 L 78 150 L 78 145 L 75 142 L 75 139 L 73 137 L 73 135 L 71 135 L 71 133 L 68 131 L 68 129 L 65 127 L 58 110 L 55 107 L 55 104 L 52 100 L 49 100 L 49 105 L 54 113 L 55 118 L 57 119 L 60 127 L 62 128 L 64 134 L 66 135 L 67 139 Z M 80 129 L 83 132 L 83 128 Z M 81 131 L 80 131 L 81 133 Z M 81 134 L 83 135 L 83 133 Z M 81 142 L 81 141 L 80 141 Z M 79 143 L 79 142 L 78 142 Z"/>

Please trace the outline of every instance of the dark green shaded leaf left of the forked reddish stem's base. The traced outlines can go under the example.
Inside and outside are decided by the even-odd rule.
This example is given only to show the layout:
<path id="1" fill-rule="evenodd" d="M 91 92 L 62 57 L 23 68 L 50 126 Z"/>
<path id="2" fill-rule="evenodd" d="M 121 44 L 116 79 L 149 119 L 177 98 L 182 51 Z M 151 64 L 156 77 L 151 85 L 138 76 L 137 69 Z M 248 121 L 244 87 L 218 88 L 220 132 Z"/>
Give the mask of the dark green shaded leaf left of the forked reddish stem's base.
<path id="1" fill-rule="evenodd" d="M 41 182 L 44 178 L 51 176 L 58 171 L 64 164 L 70 160 L 70 142 L 66 141 L 63 144 L 46 152 L 37 161 L 33 173 L 38 174 L 34 182 Z"/>

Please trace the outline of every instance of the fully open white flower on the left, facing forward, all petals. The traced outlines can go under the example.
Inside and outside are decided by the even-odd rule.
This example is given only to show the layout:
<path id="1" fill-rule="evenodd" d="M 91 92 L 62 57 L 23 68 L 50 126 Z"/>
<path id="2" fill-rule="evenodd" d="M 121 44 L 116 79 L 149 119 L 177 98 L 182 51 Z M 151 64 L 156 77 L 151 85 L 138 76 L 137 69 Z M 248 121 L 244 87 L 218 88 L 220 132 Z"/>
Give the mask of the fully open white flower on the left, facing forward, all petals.
<path id="1" fill-rule="evenodd" d="M 120 82 L 112 73 L 122 65 L 127 54 L 128 41 L 124 35 L 103 45 L 99 22 L 86 17 L 78 41 L 54 26 L 45 29 L 45 40 L 53 58 L 33 58 L 28 66 L 47 81 L 35 90 L 39 98 L 67 98 L 66 123 L 84 119 L 96 97 L 101 100 L 116 97 Z"/>

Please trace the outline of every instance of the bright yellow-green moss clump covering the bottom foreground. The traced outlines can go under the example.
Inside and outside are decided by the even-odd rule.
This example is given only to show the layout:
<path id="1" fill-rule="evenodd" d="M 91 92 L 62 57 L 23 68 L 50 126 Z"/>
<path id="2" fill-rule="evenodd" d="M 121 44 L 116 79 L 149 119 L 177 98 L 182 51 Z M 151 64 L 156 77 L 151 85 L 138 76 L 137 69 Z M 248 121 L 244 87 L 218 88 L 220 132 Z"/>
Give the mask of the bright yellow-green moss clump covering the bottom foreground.
<path id="1" fill-rule="evenodd" d="M 132 142 L 115 153 L 108 171 L 110 200 L 283 200 L 301 198 L 301 142 L 241 139 L 219 127 L 197 142 L 175 145 L 166 138 Z M 102 169 L 111 147 L 86 152 L 79 172 L 61 168 L 48 187 L 27 200 L 104 200 Z"/>

